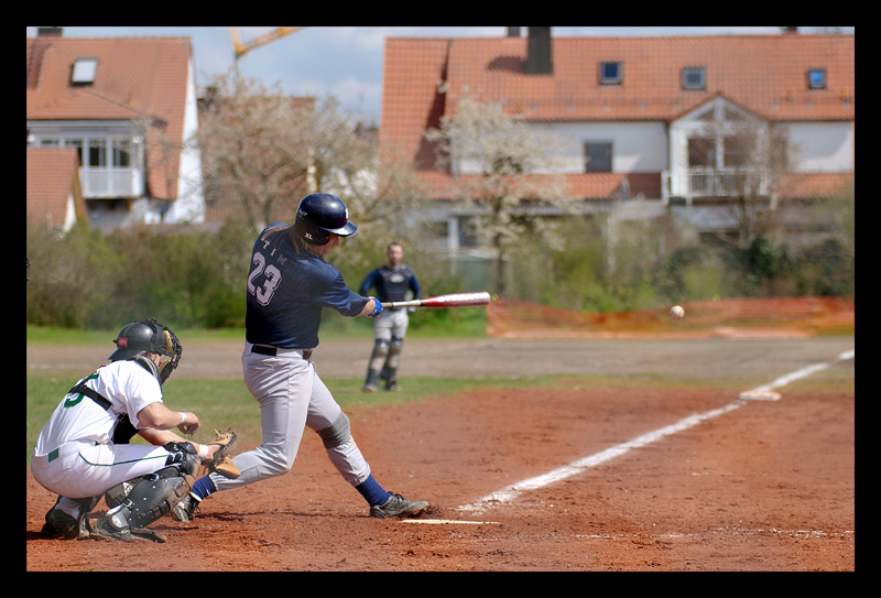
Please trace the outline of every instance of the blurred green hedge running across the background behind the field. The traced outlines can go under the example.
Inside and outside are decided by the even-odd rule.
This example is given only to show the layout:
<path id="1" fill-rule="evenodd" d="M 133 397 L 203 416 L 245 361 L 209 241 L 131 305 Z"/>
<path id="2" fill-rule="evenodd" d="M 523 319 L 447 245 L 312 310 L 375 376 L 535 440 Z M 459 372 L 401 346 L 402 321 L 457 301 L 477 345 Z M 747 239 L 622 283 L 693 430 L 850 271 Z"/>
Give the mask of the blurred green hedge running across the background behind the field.
<path id="1" fill-rule="evenodd" d="M 591 225 L 592 226 L 592 225 Z M 253 233 L 228 222 L 216 233 L 138 227 L 101 235 L 74 228 L 64 236 L 28 229 L 26 322 L 36 326 L 118 329 L 144 317 L 170 326 L 225 328 L 244 325 L 244 289 Z M 681 247 L 666 252 L 639 242 L 616 248 L 609 273 L 599 229 L 576 230 L 565 247 L 525 241 L 509 262 L 512 298 L 592 312 L 651 308 L 681 301 L 737 296 L 853 296 L 853 253 L 837 241 L 793 251 L 759 237 L 746 249 Z M 367 239 L 358 241 L 366 242 Z M 347 241 L 348 242 L 348 241 Z M 356 290 L 384 262 L 384 243 L 355 244 L 330 261 Z M 477 291 L 450 274 L 443 260 L 409 243 L 423 296 Z M 425 309 L 413 330 L 479 334 L 482 309 Z M 347 331 L 367 322 L 325 311 L 323 329 Z"/>

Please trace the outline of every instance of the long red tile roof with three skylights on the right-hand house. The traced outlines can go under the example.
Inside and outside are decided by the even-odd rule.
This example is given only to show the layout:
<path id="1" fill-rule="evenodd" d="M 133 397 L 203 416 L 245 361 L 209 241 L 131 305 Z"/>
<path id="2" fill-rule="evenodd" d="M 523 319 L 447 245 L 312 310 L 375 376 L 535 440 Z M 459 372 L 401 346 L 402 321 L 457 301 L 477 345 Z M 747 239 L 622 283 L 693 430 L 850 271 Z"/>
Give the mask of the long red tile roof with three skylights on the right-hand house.
<path id="1" fill-rule="evenodd" d="M 422 133 L 455 113 L 466 86 L 481 99 L 504 100 L 529 121 L 670 122 L 717 95 L 768 120 L 853 120 L 855 48 L 853 35 L 838 34 L 554 37 L 553 74 L 526 75 L 525 37 L 388 39 L 380 143 L 437 183 L 434 152 Z M 620 85 L 599 84 L 599 65 L 607 61 L 622 63 Z M 682 89 L 686 66 L 705 67 L 706 89 Z M 825 89 L 807 88 L 812 68 L 826 69 Z M 442 83 L 446 93 L 438 91 Z M 568 178 L 574 194 L 606 197 L 623 176 Z M 646 196 L 660 195 L 651 192 L 654 181 L 639 185 Z"/>

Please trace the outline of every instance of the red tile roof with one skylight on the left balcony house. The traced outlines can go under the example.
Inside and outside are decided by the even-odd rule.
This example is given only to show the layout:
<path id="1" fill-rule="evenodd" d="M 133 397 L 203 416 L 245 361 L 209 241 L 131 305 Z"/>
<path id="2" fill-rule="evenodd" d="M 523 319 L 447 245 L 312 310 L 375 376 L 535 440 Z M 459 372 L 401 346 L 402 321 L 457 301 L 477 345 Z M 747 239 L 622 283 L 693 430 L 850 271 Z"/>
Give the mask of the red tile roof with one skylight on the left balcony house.
<path id="1" fill-rule="evenodd" d="M 95 81 L 88 86 L 70 84 L 78 57 L 98 59 Z M 188 37 L 29 37 L 28 120 L 132 120 L 151 116 L 164 122 L 164 135 L 180 146 L 191 57 Z M 160 144 L 151 143 L 148 161 L 154 166 L 161 164 L 150 168 L 152 195 L 173 198 L 178 156 L 173 153 L 163 159 Z"/>

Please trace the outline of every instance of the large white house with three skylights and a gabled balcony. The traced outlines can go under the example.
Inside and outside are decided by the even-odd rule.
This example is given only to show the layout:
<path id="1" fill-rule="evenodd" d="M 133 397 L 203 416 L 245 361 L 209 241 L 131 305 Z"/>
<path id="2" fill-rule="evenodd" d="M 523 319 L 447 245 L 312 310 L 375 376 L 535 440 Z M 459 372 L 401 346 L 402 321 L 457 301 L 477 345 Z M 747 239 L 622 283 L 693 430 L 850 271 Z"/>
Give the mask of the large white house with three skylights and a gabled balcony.
<path id="1" fill-rule="evenodd" d="M 742 195 L 747 181 L 776 210 L 833 193 L 853 173 L 852 34 L 552 37 L 551 28 L 529 28 L 523 37 L 519 29 L 387 40 L 380 144 L 433 188 L 453 175 L 435 167 L 423 132 L 455 115 L 466 90 L 570 140 L 559 174 L 586 211 L 641 198 L 638 211 L 726 232 L 736 224 L 720 199 Z M 780 176 L 746 167 L 732 133 L 744 122 L 769 139 L 785 132 L 792 160 Z M 439 191 L 433 198 L 444 203 Z M 460 216 L 445 217 L 455 249 Z"/>

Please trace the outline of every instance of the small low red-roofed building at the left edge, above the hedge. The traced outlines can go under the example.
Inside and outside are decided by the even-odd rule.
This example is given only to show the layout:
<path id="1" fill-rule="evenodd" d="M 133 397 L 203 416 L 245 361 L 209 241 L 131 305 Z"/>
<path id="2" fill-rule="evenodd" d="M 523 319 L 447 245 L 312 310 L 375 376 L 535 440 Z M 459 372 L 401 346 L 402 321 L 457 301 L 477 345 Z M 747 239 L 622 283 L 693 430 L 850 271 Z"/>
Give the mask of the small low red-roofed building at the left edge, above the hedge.
<path id="1" fill-rule="evenodd" d="M 33 224 L 67 232 L 76 222 L 88 221 L 76 150 L 28 148 L 25 170 L 28 215 Z"/>

